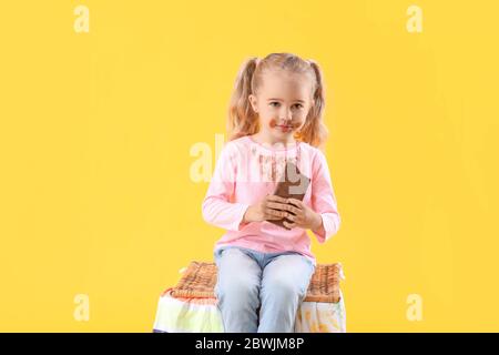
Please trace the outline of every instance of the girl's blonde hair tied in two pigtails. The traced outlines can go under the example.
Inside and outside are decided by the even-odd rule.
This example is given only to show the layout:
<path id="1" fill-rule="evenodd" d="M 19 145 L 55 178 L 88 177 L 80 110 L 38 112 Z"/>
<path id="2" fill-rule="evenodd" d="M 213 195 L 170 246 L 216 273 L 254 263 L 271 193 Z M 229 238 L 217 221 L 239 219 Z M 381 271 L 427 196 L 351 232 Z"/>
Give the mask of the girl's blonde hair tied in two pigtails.
<path id="1" fill-rule="evenodd" d="M 294 138 L 313 146 L 323 149 L 328 130 L 323 122 L 325 92 L 323 73 L 313 60 L 303 60 L 292 53 L 271 53 L 264 59 L 257 57 L 247 59 L 241 67 L 231 102 L 228 105 L 227 136 L 228 141 L 259 131 L 258 114 L 253 111 L 249 94 L 256 94 L 264 72 L 267 70 L 288 70 L 292 73 L 307 74 L 313 80 L 314 105 L 308 111 L 306 121 Z"/>

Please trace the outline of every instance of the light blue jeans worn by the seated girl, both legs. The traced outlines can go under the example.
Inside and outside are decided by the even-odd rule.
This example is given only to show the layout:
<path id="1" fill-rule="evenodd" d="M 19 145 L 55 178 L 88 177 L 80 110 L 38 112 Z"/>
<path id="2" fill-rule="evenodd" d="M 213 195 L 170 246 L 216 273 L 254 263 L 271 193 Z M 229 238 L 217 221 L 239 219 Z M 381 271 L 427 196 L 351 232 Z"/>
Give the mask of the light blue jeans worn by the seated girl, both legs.
<path id="1" fill-rule="evenodd" d="M 226 333 L 294 332 L 296 312 L 315 272 L 310 260 L 297 252 L 259 253 L 233 245 L 213 255 L 215 295 Z"/>

